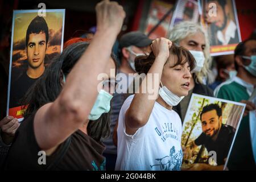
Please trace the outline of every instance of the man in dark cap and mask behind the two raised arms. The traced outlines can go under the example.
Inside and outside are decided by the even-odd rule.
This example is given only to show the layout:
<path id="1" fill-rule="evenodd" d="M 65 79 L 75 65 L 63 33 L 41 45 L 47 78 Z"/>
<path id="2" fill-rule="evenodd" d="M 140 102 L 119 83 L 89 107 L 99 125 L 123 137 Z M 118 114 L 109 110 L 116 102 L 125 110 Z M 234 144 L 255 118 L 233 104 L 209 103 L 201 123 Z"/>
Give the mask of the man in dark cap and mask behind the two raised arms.
<path id="1" fill-rule="evenodd" d="M 124 34 L 119 40 L 119 53 L 121 65 L 115 80 L 118 82 L 118 86 L 115 89 L 112 99 L 112 111 L 111 111 L 111 124 L 110 137 L 104 140 L 106 150 L 104 156 L 106 157 L 106 170 L 114 170 L 115 160 L 117 159 L 117 147 L 113 143 L 113 131 L 115 124 L 117 123 L 119 111 L 126 98 L 127 89 L 134 77 L 137 76 L 134 66 L 135 57 L 150 53 L 151 39 L 148 39 L 146 35 L 139 31 L 132 31 Z M 129 75 L 130 73 L 130 75 Z"/>

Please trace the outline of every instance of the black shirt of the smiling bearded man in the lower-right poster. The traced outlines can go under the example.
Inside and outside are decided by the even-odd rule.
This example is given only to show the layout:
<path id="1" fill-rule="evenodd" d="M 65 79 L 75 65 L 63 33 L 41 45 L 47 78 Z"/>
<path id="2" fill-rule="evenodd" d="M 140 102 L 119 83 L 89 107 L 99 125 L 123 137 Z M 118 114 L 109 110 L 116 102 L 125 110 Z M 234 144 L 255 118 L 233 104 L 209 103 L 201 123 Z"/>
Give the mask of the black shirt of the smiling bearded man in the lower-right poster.
<path id="1" fill-rule="evenodd" d="M 216 163 L 218 165 L 223 165 L 225 164 L 224 159 L 228 157 L 229 148 L 233 141 L 235 132 L 236 130 L 232 126 L 222 124 L 218 137 L 215 141 L 205 133 L 201 133 L 201 135 L 195 140 L 195 143 L 197 146 L 203 144 L 207 148 L 208 152 L 216 151 Z"/>

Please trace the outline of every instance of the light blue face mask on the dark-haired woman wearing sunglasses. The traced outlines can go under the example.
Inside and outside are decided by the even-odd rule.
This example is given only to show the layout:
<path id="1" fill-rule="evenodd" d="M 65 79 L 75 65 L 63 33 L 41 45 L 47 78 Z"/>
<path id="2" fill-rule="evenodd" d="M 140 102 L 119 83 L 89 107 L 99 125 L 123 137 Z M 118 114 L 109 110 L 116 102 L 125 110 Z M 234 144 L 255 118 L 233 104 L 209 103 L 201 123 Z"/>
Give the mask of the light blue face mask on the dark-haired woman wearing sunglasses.
<path id="1" fill-rule="evenodd" d="M 66 82 L 64 74 L 63 82 Z M 90 121 L 95 121 L 100 118 L 103 113 L 108 113 L 110 110 L 110 101 L 112 100 L 112 98 L 113 96 L 110 93 L 106 92 L 105 90 L 100 90 L 93 105 L 93 108 L 90 111 L 88 119 Z"/>

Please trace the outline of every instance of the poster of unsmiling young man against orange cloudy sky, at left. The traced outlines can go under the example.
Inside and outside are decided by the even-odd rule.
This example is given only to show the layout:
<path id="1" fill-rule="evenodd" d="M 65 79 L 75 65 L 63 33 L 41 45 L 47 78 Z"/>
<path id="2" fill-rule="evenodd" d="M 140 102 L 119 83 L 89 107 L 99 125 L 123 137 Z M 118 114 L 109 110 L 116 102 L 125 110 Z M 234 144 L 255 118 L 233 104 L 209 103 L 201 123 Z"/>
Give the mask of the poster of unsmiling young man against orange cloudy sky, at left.
<path id="1" fill-rule="evenodd" d="M 23 118 L 23 97 L 63 49 L 65 10 L 14 10 L 7 115 Z"/>

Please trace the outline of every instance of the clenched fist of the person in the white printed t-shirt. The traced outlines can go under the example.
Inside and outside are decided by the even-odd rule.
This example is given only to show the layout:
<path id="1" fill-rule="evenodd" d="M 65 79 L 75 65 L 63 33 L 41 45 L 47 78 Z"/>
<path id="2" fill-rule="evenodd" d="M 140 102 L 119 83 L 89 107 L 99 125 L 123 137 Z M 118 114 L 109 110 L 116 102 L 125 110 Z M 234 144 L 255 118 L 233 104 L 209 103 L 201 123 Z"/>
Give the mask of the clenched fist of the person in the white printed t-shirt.
<path id="1" fill-rule="evenodd" d="M 170 52 L 169 49 L 172 46 L 172 42 L 169 39 L 166 38 L 158 38 L 155 39 L 151 44 L 151 49 L 154 52 L 155 57 L 162 57 L 161 60 L 166 63 Z"/>

